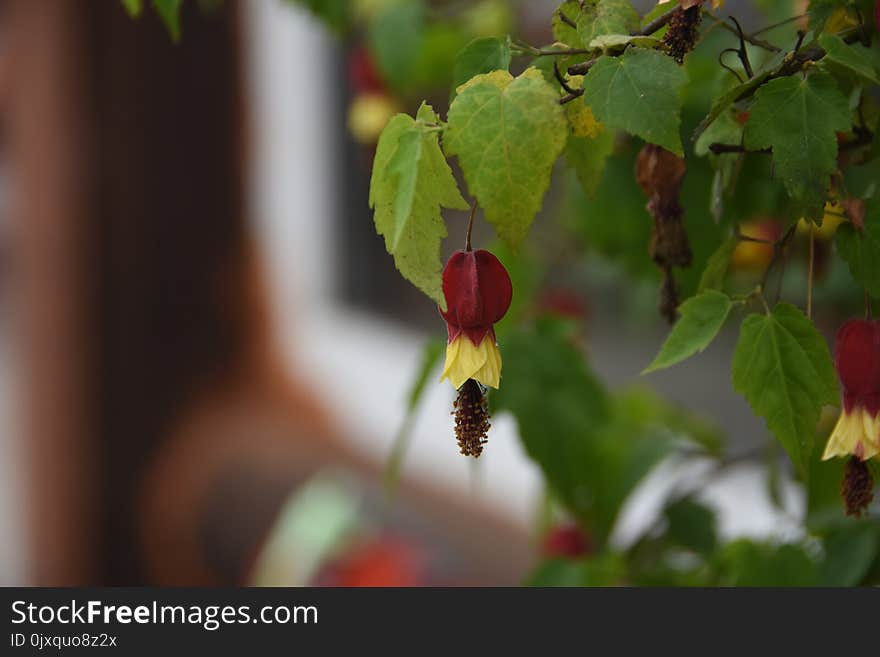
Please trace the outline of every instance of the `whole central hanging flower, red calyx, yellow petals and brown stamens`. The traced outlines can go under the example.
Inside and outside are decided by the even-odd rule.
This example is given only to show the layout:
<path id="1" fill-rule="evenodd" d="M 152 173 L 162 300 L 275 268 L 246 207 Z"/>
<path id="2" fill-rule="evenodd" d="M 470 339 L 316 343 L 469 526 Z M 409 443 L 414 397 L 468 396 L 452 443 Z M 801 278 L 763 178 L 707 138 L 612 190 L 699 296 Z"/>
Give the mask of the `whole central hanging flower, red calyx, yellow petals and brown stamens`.
<path id="1" fill-rule="evenodd" d="M 501 353 L 493 325 L 510 307 L 513 286 L 498 258 L 488 251 L 458 251 L 443 269 L 449 342 L 443 379 L 456 390 L 455 435 L 465 456 L 478 457 L 486 444 L 489 408 L 483 386 L 501 383 Z"/>

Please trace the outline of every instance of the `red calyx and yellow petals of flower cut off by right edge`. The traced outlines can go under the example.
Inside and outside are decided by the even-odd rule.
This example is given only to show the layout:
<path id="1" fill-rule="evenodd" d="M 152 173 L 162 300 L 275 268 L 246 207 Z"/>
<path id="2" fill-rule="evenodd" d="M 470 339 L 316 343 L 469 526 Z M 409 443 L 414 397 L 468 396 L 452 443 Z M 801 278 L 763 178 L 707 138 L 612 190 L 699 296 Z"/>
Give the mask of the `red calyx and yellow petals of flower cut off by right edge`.
<path id="1" fill-rule="evenodd" d="M 851 319 L 837 332 L 834 366 L 843 395 L 840 418 L 822 459 L 880 453 L 880 322 Z"/>

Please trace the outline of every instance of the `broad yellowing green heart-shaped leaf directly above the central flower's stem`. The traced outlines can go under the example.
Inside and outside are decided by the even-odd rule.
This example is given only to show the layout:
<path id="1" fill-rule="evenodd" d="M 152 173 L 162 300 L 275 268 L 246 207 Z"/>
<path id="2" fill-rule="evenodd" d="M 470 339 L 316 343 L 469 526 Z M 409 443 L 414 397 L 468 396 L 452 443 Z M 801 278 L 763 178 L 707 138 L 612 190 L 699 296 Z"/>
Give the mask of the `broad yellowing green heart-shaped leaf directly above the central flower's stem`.
<path id="1" fill-rule="evenodd" d="M 443 145 L 457 155 L 468 189 L 511 248 L 525 237 L 565 146 L 559 94 L 534 68 L 478 75 L 449 108 Z"/>

